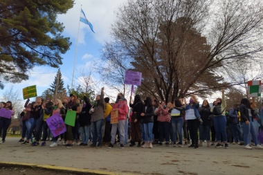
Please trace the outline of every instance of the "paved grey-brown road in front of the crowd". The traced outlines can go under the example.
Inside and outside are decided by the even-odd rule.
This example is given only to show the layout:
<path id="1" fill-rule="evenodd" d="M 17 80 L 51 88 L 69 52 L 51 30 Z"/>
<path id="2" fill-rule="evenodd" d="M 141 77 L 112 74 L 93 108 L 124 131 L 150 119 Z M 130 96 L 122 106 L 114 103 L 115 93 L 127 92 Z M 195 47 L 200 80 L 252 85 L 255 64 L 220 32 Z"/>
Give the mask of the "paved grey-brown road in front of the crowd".
<path id="1" fill-rule="evenodd" d="M 263 150 L 230 145 L 215 147 L 165 147 L 153 149 L 125 146 L 101 149 L 73 146 L 32 147 L 18 138 L 6 138 L 0 144 L 0 162 L 33 163 L 77 169 L 97 169 L 109 174 L 263 174 Z M 1 170 L 0 170 L 1 171 Z M 1 173 L 0 173 L 1 174 Z"/>

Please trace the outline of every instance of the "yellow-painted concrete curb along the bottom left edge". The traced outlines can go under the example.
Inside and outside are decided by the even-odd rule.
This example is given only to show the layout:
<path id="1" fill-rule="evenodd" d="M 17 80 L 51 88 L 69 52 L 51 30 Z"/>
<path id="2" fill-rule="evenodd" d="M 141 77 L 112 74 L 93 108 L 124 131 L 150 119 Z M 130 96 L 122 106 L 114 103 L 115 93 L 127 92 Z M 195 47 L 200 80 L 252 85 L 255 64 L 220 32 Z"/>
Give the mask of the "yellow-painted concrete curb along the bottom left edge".
<path id="1" fill-rule="evenodd" d="M 125 174 L 125 175 L 132 175 L 127 173 L 114 173 L 114 172 L 107 172 L 107 171 L 101 171 L 96 169 L 80 169 L 80 168 L 74 168 L 74 167 L 59 167 L 59 166 L 51 166 L 51 165 L 37 165 L 34 163 L 15 163 L 15 162 L 0 162 L 0 167 L 25 167 L 25 168 L 41 168 L 46 169 L 49 171 L 57 171 L 57 172 L 69 172 L 74 174 L 99 174 L 99 175 L 119 175 L 119 174 Z"/>

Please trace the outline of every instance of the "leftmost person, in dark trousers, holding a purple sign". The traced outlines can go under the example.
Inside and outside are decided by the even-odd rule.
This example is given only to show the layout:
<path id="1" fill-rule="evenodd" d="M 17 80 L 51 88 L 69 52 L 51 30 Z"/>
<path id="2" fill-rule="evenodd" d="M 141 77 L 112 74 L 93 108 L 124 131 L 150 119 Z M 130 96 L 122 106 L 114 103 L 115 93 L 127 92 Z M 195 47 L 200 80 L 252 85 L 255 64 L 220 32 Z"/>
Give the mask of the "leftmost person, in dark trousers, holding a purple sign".
<path id="1" fill-rule="evenodd" d="M 3 130 L 2 141 L 0 143 L 6 142 L 6 133 L 8 131 L 9 125 L 11 124 L 11 118 L 14 116 L 14 114 L 15 111 L 12 107 L 12 102 L 10 101 L 6 102 L 6 104 L 0 109 L 0 136 L 1 131 Z"/>

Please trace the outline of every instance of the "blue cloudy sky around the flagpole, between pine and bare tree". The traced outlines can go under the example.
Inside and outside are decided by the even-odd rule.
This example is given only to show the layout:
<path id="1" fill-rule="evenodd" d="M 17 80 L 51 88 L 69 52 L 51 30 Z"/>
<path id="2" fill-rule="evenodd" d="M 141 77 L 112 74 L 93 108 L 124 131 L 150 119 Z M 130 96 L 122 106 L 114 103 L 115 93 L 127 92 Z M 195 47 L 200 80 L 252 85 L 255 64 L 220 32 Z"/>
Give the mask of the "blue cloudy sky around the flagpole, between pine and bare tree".
<path id="1" fill-rule="evenodd" d="M 75 5 L 66 14 L 59 15 L 57 21 L 64 24 L 64 37 L 70 37 L 72 42 L 70 49 L 63 57 L 63 64 L 60 66 L 64 85 L 71 86 L 73 76 L 73 64 L 75 59 L 76 44 L 78 38 L 78 52 L 76 54 L 75 75 L 79 77 L 80 72 L 89 70 L 89 68 L 100 62 L 102 46 L 105 42 L 111 40 L 111 24 L 116 20 L 116 12 L 124 0 L 100 0 L 100 1 L 84 1 L 75 0 Z M 91 31 L 88 25 L 80 22 L 79 35 L 78 26 L 80 21 L 80 9 L 84 11 L 87 19 L 93 25 Z M 0 89 L 0 97 L 11 86 L 15 91 L 21 91 L 21 99 L 23 99 L 22 89 L 26 86 L 37 85 L 37 95 L 42 95 L 42 92 L 50 87 L 55 79 L 57 68 L 48 66 L 37 66 L 29 73 L 29 80 L 23 81 L 19 84 L 6 83 L 3 90 Z M 93 75 L 93 78 L 98 79 L 98 75 Z M 74 86 L 80 84 L 79 80 L 74 78 Z M 100 91 L 103 84 L 98 84 L 96 92 Z M 116 94 L 117 95 L 117 94 Z"/>

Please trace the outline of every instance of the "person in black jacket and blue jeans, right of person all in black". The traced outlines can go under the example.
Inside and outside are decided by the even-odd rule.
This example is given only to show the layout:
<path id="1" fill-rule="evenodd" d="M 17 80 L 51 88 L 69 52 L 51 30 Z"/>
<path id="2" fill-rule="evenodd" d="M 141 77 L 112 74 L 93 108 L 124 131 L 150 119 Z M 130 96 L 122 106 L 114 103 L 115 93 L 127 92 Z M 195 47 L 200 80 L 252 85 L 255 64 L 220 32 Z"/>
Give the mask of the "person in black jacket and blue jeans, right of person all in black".
<path id="1" fill-rule="evenodd" d="M 154 107 L 152 106 L 151 98 L 147 97 L 144 102 L 145 113 L 140 113 L 140 116 L 143 118 L 143 139 L 145 142 L 142 147 L 152 148 L 152 142 L 154 140 L 154 135 L 152 134 L 152 128 L 154 126 Z"/>

